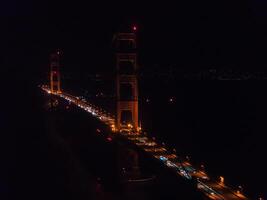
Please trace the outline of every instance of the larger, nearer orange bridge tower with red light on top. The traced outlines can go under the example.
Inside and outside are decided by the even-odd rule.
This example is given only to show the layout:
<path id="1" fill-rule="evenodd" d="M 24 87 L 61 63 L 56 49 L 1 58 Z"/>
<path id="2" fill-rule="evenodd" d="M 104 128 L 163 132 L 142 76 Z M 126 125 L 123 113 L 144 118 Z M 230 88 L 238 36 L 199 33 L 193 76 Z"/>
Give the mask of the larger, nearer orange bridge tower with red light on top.
<path id="1" fill-rule="evenodd" d="M 135 31 L 136 28 L 133 28 Z M 138 131 L 138 80 L 135 32 L 116 34 L 116 88 L 118 131 Z"/>

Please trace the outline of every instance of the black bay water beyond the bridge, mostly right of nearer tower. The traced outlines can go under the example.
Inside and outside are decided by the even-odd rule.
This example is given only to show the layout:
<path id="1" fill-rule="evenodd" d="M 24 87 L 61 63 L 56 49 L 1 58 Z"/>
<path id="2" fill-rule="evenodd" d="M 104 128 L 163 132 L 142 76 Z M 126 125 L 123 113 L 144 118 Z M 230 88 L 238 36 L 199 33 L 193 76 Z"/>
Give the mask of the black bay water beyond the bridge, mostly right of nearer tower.
<path id="1" fill-rule="evenodd" d="M 251 197 L 266 195 L 266 86 L 264 81 L 141 79 L 142 127 L 196 165 L 204 164 L 214 178 L 224 176 Z M 90 100 L 112 110 L 114 99 Z"/>

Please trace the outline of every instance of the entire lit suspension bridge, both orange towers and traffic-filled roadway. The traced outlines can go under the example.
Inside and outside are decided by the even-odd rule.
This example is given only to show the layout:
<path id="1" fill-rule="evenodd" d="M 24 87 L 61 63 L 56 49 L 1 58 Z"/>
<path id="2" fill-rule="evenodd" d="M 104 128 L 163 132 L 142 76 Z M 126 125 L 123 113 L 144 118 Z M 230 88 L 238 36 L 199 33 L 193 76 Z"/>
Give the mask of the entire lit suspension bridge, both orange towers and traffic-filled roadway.
<path id="1" fill-rule="evenodd" d="M 248 199 L 242 188 L 237 190 L 224 183 L 224 178 L 215 180 L 203 169 L 196 167 L 189 159 L 178 156 L 175 149 L 167 147 L 148 133 L 142 131 L 138 121 L 138 79 L 136 30 L 126 33 L 117 33 L 115 37 L 116 49 L 116 115 L 108 113 L 84 99 L 69 94 L 61 88 L 60 79 L 60 51 L 50 57 L 50 86 L 42 85 L 41 89 L 76 105 L 106 124 L 112 132 L 108 139 L 120 135 L 135 145 L 147 155 L 158 160 L 178 177 L 195 184 L 196 190 L 202 192 L 208 199 L 235 200 Z M 123 94 L 128 91 L 128 96 Z M 260 198 L 261 199 L 261 198 Z"/>

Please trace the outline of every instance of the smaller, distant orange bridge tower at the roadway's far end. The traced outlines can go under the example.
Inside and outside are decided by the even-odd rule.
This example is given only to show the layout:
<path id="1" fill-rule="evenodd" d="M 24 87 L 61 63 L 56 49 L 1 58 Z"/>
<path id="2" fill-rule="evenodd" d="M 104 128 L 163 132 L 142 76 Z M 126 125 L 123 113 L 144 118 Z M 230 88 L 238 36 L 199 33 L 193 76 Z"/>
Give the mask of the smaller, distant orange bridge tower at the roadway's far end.
<path id="1" fill-rule="evenodd" d="M 52 53 L 50 55 L 50 89 L 51 93 L 60 93 L 60 52 Z"/>

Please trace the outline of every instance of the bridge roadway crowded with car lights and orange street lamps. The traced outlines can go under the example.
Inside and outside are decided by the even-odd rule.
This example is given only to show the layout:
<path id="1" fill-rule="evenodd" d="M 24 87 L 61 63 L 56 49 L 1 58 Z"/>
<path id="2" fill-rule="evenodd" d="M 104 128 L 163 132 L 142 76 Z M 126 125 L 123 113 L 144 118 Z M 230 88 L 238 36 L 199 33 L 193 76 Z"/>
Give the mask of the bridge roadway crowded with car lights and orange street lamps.
<path id="1" fill-rule="evenodd" d="M 47 86 L 41 86 L 41 88 L 48 94 L 51 94 L 51 91 Z M 133 133 L 127 129 L 122 132 L 116 132 L 114 116 L 105 112 L 101 108 L 66 92 L 53 93 L 53 95 L 59 96 L 67 100 L 68 102 L 75 104 L 86 112 L 89 112 L 100 121 L 108 125 L 112 132 L 114 132 L 114 134 L 123 135 L 133 144 L 147 152 L 150 156 L 159 160 L 159 162 L 173 170 L 177 174 L 177 176 L 181 176 L 191 182 L 196 181 L 197 190 L 203 192 L 209 199 L 248 199 L 240 192 L 234 191 L 232 188 L 224 185 L 224 183 L 214 181 L 207 175 L 205 171 L 194 167 L 187 159 L 180 156 L 178 157 L 176 153 L 168 150 L 164 144 L 156 141 L 154 137 L 149 137 L 146 133 Z"/>

